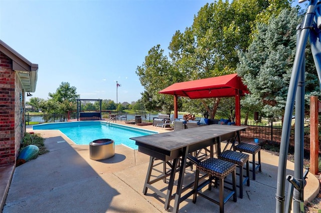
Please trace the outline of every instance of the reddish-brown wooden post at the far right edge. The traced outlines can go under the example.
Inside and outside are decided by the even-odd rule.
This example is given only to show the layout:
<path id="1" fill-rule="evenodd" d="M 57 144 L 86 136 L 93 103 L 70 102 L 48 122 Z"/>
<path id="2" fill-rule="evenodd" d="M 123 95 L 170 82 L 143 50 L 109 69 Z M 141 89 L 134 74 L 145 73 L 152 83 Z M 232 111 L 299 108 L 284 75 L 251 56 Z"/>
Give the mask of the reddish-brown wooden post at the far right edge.
<path id="1" fill-rule="evenodd" d="M 310 97 L 310 171 L 318 172 L 318 100 L 317 96 Z"/>

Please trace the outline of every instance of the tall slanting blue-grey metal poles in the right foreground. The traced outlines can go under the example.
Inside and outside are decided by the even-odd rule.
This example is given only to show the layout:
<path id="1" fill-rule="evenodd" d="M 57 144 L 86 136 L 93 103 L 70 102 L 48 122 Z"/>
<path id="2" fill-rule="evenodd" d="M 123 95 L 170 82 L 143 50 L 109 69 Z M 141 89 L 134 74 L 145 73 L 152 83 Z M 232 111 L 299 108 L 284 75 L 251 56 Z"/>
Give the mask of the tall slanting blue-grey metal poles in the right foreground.
<path id="1" fill-rule="evenodd" d="M 298 44 L 296 46 L 296 54 L 295 54 L 295 59 L 293 63 L 293 68 L 292 68 L 292 74 L 291 74 L 291 79 L 290 79 L 290 84 L 289 84 L 289 89 L 288 89 L 288 95 L 286 99 L 286 105 L 285 105 L 285 113 L 284 113 L 284 120 L 283 120 L 283 127 L 282 127 L 282 135 L 281 135 L 281 144 L 280 144 L 280 152 L 279 152 L 279 164 L 278 164 L 278 172 L 277 172 L 277 187 L 276 187 L 276 212 L 284 212 L 284 200 L 285 200 L 285 195 L 284 195 L 284 188 L 285 188 L 285 172 L 286 172 L 286 160 L 287 160 L 287 154 L 288 154 L 288 147 L 289 147 L 289 138 L 290 138 L 290 130 L 291 130 L 291 120 L 292 120 L 292 114 L 293 114 L 293 107 L 294 107 L 294 99 L 296 95 L 296 89 L 298 86 L 298 81 L 300 79 L 300 87 L 304 86 L 304 81 L 302 85 L 302 79 L 300 73 L 303 72 L 302 66 L 304 65 L 304 54 L 305 54 L 305 47 L 306 47 L 306 41 L 310 32 L 310 28 L 312 27 L 312 22 L 314 18 L 314 12 L 315 12 L 315 5 L 318 0 L 310 0 L 309 1 L 309 6 L 307 8 L 306 14 L 304 16 L 304 19 L 302 23 L 297 27 L 297 36 L 298 36 Z M 304 72 L 303 72 L 304 74 Z M 304 91 L 304 89 L 303 89 Z M 299 94 L 298 96 L 301 97 L 301 92 L 302 90 L 299 89 Z M 303 105 L 303 110 L 304 110 L 304 99 L 303 101 L 301 98 L 298 98 L 296 101 L 296 105 Z M 300 107 L 298 106 L 297 109 L 300 110 Z M 298 116 L 302 116 L 300 112 L 299 114 L 296 115 L 295 118 Z M 301 123 L 296 123 L 296 125 L 302 125 L 303 122 Z M 299 128 L 299 131 L 301 131 L 302 128 Z M 297 135 L 303 134 L 303 132 L 297 132 Z M 297 140 L 297 138 L 295 137 Z M 304 141 L 295 141 L 295 146 L 299 146 L 299 149 L 301 149 L 301 143 Z M 298 157 L 302 158 L 303 156 L 300 153 L 294 153 L 295 159 Z M 299 159 L 299 161 L 303 161 L 302 159 Z M 302 168 L 299 164 L 299 166 L 295 166 L 294 168 L 294 180 L 292 181 L 293 183 L 298 183 L 296 185 L 296 190 L 294 191 L 294 202 L 293 202 L 293 210 L 294 212 L 301 212 L 301 206 L 303 203 L 303 179 L 302 179 Z M 300 172 L 299 175 L 297 175 Z M 292 184 L 292 183 L 291 183 Z M 295 185 L 294 185 L 295 188 Z M 289 203 L 288 203 L 289 204 Z M 289 209 L 290 206 L 287 206 L 287 209 Z M 304 208 L 303 208 L 304 211 Z"/>

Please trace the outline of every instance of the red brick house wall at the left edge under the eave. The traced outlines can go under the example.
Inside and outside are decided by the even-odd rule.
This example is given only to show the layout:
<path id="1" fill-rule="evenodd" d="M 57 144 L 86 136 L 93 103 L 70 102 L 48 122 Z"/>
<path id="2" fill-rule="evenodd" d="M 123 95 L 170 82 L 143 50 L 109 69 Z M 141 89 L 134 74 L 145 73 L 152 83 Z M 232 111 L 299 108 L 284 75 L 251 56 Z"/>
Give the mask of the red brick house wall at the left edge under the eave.
<path id="1" fill-rule="evenodd" d="M 12 60 L 0 52 L 0 165 L 16 162 L 19 153 L 22 85 L 12 70 Z M 22 100 L 23 101 L 23 100 Z"/>

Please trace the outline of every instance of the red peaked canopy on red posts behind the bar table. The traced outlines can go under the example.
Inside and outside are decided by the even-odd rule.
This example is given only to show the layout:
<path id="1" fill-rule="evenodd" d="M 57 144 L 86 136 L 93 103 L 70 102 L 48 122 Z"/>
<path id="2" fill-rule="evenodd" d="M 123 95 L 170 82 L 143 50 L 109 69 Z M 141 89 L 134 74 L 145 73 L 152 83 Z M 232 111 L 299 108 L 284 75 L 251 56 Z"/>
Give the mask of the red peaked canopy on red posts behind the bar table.
<path id="1" fill-rule="evenodd" d="M 245 95 L 245 93 L 249 93 L 249 91 L 237 73 L 234 73 L 218 77 L 174 83 L 159 91 L 159 93 L 174 95 L 175 118 L 178 117 L 178 96 L 185 96 L 191 99 L 235 96 L 235 122 L 236 125 L 240 125 L 240 96 Z"/>

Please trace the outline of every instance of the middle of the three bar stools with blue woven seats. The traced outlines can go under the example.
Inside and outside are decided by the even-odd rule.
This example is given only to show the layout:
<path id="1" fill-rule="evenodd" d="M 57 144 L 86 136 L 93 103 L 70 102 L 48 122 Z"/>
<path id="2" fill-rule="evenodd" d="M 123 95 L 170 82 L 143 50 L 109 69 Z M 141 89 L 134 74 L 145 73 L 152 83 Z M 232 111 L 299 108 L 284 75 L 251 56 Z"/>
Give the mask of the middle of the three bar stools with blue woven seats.
<path id="1" fill-rule="evenodd" d="M 250 167 L 249 167 L 249 158 L 250 155 L 246 153 L 241 153 L 238 151 L 226 150 L 220 153 L 219 159 L 227 160 L 235 163 L 240 171 L 239 171 L 239 184 L 236 185 L 240 188 L 239 196 L 243 198 L 243 185 L 247 183 L 247 186 L 250 186 Z M 243 166 L 246 163 L 246 175 L 243 179 Z"/>

